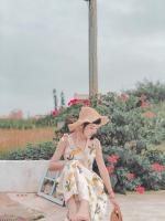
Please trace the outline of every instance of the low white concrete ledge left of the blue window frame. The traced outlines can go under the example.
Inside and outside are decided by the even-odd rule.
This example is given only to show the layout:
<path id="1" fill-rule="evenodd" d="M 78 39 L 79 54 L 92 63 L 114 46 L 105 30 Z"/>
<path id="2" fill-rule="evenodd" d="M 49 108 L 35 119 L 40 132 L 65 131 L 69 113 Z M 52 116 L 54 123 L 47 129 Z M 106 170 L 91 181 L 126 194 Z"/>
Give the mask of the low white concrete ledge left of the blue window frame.
<path id="1" fill-rule="evenodd" d="M 37 192 L 50 160 L 0 160 L 0 192 Z"/>

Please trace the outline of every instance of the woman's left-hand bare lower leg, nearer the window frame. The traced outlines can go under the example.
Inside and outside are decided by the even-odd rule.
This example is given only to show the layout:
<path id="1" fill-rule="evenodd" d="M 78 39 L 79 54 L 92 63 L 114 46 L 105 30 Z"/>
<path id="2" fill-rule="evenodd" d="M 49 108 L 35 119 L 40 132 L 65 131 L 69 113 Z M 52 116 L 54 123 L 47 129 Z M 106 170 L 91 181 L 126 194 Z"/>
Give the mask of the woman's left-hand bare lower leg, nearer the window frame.
<path id="1" fill-rule="evenodd" d="M 76 203 L 74 196 L 67 200 L 66 207 L 68 208 L 68 219 L 72 221 L 77 221 L 76 213 L 78 211 L 78 204 Z"/>

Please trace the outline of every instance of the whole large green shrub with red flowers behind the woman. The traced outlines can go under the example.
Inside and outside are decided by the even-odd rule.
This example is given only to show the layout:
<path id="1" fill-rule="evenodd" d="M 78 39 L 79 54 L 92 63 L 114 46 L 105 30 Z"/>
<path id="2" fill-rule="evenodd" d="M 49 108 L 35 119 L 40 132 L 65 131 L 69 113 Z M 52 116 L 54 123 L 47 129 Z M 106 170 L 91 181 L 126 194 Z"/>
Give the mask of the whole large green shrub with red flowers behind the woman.
<path id="1" fill-rule="evenodd" d="M 151 150 L 151 146 L 165 139 L 165 117 L 150 102 L 148 95 L 109 92 L 98 101 L 90 99 L 89 104 L 111 119 L 98 130 L 97 137 L 114 190 L 144 193 L 150 189 L 165 189 L 165 156 Z M 67 124 L 78 118 L 85 102 L 72 99 L 68 105 L 56 117 L 66 123 L 62 134 L 68 133 Z M 96 162 L 94 170 L 99 173 Z"/>

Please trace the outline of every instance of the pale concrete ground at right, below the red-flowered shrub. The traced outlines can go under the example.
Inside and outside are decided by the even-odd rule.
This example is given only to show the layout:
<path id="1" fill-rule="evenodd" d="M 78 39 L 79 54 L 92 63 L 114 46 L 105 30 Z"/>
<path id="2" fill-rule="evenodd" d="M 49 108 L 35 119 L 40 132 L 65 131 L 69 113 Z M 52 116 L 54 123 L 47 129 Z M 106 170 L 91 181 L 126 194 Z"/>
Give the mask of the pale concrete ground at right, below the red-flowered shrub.
<path id="1" fill-rule="evenodd" d="M 124 221 L 165 221 L 165 191 L 118 196 Z"/>

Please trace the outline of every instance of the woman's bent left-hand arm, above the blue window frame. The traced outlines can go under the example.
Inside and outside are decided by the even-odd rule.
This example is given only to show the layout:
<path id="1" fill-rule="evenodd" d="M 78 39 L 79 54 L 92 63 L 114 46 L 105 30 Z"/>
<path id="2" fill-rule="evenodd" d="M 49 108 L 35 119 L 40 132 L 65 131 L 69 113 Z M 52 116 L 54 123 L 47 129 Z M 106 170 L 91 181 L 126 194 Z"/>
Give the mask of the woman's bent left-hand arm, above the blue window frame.
<path id="1" fill-rule="evenodd" d="M 50 170 L 62 170 L 64 168 L 65 160 L 61 160 L 61 158 L 64 155 L 65 147 L 67 144 L 66 138 L 67 138 L 66 135 L 64 135 L 59 139 L 56 150 L 50 160 L 50 167 L 48 167 Z"/>

